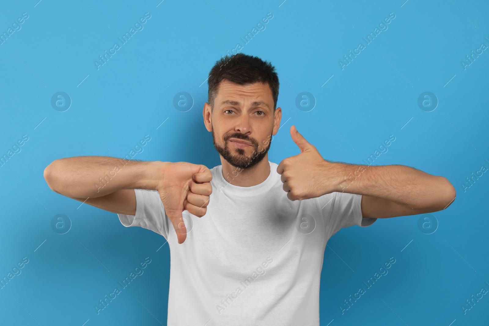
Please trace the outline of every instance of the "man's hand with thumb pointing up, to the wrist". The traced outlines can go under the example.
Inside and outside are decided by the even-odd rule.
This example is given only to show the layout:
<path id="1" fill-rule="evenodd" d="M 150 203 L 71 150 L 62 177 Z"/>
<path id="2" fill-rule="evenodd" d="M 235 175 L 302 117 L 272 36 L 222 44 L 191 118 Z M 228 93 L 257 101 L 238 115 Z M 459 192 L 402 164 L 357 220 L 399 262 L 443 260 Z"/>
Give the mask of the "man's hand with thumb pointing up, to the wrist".
<path id="1" fill-rule="evenodd" d="M 295 126 L 290 127 L 290 136 L 301 152 L 285 158 L 277 167 L 287 197 L 294 201 L 337 191 L 341 182 L 341 164 L 325 160 Z"/>

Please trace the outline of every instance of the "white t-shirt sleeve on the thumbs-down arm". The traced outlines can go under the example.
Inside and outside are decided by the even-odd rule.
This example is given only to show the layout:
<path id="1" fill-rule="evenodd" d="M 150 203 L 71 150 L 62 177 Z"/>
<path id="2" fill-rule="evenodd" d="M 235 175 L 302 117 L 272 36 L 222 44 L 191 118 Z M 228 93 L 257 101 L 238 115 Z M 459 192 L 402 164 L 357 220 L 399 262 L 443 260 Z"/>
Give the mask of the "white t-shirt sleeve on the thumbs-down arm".
<path id="1" fill-rule="evenodd" d="M 140 226 L 168 240 L 168 217 L 156 190 L 134 189 L 136 215 L 117 214 L 124 226 Z"/>

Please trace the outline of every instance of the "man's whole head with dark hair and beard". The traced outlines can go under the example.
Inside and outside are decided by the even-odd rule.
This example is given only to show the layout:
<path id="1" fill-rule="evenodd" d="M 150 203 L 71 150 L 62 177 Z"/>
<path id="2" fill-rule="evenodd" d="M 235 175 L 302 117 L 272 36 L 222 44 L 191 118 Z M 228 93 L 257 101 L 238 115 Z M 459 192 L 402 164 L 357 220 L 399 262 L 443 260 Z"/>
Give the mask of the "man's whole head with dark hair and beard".
<path id="1" fill-rule="evenodd" d="M 251 168 L 267 156 L 271 137 L 280 127 L 275 67 L 238 53 L 217 61 L 207 82 L 209 103 L 204 105 L 204 123 L 212 131 L 216 150 L 230 165 Z"/>

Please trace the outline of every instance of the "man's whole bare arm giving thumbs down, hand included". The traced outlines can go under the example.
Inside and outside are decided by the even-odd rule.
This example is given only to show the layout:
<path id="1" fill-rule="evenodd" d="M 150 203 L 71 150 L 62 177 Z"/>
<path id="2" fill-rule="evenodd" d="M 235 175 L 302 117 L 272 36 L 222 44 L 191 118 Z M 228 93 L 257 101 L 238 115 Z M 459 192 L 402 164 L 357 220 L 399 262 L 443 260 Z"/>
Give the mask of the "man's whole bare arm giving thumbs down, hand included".
<path id="1" fill-rule="evenodd" d="M 136 214 L 134 189 L 156 190 L 166 216 L 177 233 L 186 238 L 182 212 L 202 217 L 212 193 L 212 174 L 201 164 L 187 162 L 141 162 L 106 156 L 67 157 L 44 169 L 54 192 L 103 210 Z"/>

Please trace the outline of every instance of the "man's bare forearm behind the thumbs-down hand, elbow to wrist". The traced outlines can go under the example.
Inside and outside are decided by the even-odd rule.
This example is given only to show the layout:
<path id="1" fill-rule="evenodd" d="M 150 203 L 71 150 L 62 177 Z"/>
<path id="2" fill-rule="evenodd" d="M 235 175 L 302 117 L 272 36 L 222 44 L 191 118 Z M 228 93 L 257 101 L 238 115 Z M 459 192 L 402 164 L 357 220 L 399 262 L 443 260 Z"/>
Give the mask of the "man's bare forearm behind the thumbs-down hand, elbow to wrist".
<path id="1" fill-rule="evenodd" d="M 122 189 L 156 190 L 158 162 L 107 156 L 66 157 L 53 161 L 44 178 L 53 191 L 71 198 L 95 198 Z"/>

